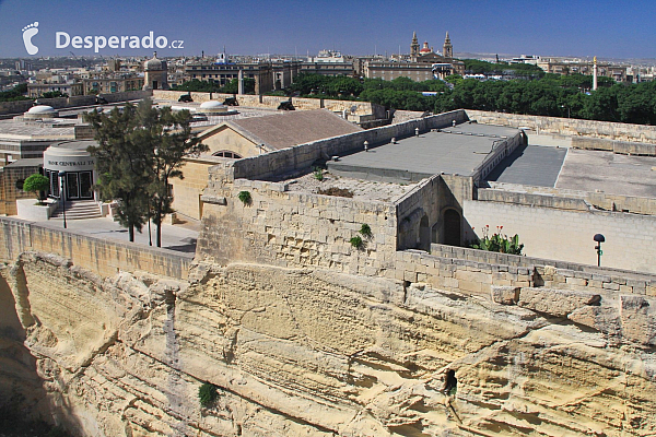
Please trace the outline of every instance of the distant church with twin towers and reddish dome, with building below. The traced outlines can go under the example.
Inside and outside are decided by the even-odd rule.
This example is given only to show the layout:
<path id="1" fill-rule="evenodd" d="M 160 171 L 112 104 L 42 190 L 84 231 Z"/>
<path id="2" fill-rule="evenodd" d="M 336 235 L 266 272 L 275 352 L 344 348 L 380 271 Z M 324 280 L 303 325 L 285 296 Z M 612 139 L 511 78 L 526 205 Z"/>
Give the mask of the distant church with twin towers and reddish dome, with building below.
<path id="1" fill-rule="evenodd" d="M 446 33 L 443 54 L 436 54 L 429 43 L 424 42 L 420 49 L 417 33 L 412 35 L 410 55 L 391 60 L 370 60 L 363 66 L 365 78 L 394 80 L 410 78 L 415 82 L 431 79 L 444 79 L 452 74 L 465 74 L 465 62 L 453 58 L 454 47 Z"/>

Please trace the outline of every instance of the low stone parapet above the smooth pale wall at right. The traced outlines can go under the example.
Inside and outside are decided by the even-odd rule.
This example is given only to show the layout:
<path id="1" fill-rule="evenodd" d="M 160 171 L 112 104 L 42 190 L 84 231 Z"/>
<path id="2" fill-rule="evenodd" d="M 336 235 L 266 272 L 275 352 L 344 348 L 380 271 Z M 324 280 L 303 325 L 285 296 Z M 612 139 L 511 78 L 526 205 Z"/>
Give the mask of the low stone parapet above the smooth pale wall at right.
<path id="1" fill-rule="evenodd" d="M 496 181 L 485 182 L 490 188 L 479 188 L 478 200 L 502 203 L 528 204 L 561 210 L 606 211 L 656 215 L 656 199 L 611 194 L 550 187 L 532 187 Z"/>

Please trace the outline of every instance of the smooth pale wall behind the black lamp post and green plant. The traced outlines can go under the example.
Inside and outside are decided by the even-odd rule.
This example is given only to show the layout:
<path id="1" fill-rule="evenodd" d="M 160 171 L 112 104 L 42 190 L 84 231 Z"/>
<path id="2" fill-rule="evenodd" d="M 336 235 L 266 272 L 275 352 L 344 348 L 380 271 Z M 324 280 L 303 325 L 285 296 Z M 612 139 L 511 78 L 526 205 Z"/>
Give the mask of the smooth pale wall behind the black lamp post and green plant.
<path id="1" fill-rule="evenodd" d="M 595 234 L 602 234 L 601 265 L 656 273 L 656 216 L 606 211 L 566 211 L 485 201 L 466 201 L 462 210 L 469 229 L 481 237 L 503 226 L 519 235 L 529 257 L 596 264 Z"/>

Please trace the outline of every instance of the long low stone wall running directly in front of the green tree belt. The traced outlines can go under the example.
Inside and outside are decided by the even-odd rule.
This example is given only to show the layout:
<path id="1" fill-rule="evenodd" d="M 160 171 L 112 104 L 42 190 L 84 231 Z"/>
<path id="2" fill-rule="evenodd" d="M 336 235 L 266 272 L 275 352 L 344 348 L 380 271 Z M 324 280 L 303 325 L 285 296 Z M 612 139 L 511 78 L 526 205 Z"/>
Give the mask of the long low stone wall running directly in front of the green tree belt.
<path id="1" fill-rule="evenodd" d="M 467 109 L 467 116 L 471 120 L 477 120 L 481 123 L 513 128 L 527 127 L 537 133 L 551 132 L 636 143 L 656 143 L 656 127 L 654 126 L 579 120 L 575 118 L 525 116 L 473 109 Z"/>

